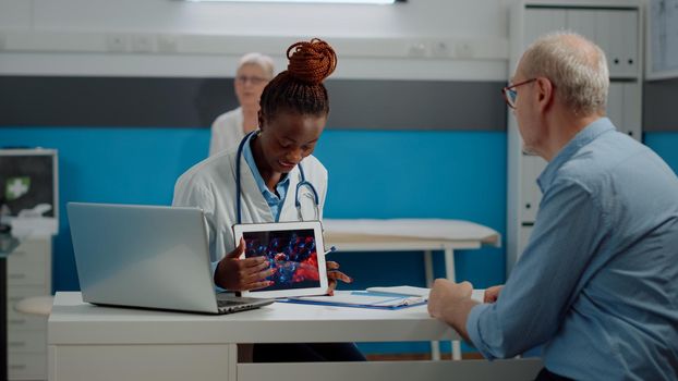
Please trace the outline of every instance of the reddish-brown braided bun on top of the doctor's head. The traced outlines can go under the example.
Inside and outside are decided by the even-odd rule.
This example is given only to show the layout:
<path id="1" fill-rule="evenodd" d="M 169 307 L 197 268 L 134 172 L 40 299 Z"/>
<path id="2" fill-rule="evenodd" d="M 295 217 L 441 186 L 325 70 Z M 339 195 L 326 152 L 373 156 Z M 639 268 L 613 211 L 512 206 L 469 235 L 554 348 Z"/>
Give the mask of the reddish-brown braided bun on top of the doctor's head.
<path id="1" fill-rule="evenodd" d="M 293 44 L 287 50 L 288 72 L 300 82 L 316 85 L 337 67 L 337 54 L 329 44 L 314 38 Z"/>

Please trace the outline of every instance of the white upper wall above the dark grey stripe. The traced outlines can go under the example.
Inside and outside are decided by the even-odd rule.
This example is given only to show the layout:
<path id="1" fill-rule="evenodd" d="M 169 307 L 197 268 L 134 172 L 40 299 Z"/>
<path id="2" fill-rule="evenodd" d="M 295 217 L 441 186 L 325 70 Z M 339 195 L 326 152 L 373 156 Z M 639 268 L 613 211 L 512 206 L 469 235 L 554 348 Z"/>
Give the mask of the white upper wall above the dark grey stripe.
<path id="1" fill-rule="evenodd" d="M 336 47 L 338 77 L 504 79 L 510 0 L 395 5 L 0 0 L 0 74 L 232 75 L 245 51 Z"/>

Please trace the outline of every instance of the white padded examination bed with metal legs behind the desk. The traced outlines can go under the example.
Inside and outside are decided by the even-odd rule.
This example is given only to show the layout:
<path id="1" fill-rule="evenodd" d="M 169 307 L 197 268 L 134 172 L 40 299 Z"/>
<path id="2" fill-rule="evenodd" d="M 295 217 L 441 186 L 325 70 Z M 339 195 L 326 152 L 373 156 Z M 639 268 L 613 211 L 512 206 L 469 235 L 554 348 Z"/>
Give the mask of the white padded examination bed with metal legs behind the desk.
<path id="1" fill-rule="evenodd" d="M 447 279 L 455 279 L 455 250 L 499 247 L 501 236 L 477 223 L 443 219 L 332 220 L 323 221 L 326 246 L 341 251 L 423 251 L 426 285 L 433 284 L 433 250 L 443 250 Z M 437 342 L 433 359 L 440 358 Z M 452 359 L 461 359 L 461 345 L 452 341 Z"/>

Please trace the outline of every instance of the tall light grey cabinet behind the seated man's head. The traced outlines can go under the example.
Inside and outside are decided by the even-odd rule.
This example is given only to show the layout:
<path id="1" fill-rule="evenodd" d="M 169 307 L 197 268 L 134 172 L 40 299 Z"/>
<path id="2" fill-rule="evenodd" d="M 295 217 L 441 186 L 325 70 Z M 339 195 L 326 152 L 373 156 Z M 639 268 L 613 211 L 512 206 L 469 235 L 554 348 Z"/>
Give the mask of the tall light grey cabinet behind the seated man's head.
<path id="1" fill-rule="evenodd" d="M 509 77 L 524 49 L 554 30 L 579 33 L 596 42 L 609 66 L 607 115 L 617 128 L 641 139 L 642 1 L 519 1 L 510 8 Z M 542 198 L 536 177 L 546 167 L 522 152 L 518 124 L 508 115 L 507 275 L 528 244 Z"/>

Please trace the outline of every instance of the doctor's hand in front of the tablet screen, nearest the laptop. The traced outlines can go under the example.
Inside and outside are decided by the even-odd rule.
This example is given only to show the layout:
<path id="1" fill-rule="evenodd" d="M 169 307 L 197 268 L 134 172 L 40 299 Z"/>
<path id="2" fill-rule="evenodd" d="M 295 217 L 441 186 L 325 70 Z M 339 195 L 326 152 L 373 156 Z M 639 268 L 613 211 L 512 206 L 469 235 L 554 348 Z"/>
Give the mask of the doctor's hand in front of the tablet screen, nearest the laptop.
<path id="1" fill-rule="evenodd" d="M 268 287 L 273 284 L 266 278 L 276 270 L 269 269 L 266 257 L 240 259 L 245 253 L 245 239 L 241 238 L 238 247 L 223 257 L 215 271 L 215 284 L 230 291 L 247 291 Z"/>

